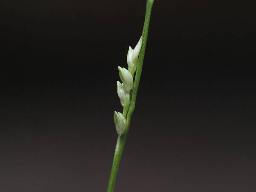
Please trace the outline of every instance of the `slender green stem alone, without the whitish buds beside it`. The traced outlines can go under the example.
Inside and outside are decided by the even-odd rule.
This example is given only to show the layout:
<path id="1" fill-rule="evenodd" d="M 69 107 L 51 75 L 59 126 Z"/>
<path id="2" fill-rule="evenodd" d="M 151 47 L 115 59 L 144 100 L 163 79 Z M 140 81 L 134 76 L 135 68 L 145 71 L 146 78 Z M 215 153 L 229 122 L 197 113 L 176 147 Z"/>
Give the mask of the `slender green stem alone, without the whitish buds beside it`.
<path id="1" fill-rule="evenodd" d="M 136 97 L 137 97 L 137 92 L 138 92 L 138 88 L 139 88 L 139 84 L 140 84 L 140 76 L 142 73 L 145 48 L 146 48 L 146 43 L 147 43 L 147 38 L 148 38 L 150 15 L 151 15 L 151 9 L 152 9 L 153 3 L 154 3 L 154 0 L 147 0 L 145 21 L 144 21 L 143 32 L 142 32 L 142 47 L 140 49 L 140 55 L 138 58 L 137 71 L 136 71 L 135 80 L 134 80 L 134 88 L 131 93 L 131 104 L 128 109 L 127 116 L 126 116 L 126 114 L 124 114 L 124 116 L 126 117 L 126 120 L 127 120 L 127 125 L 126 125 L 125 132 L 122 135 L 119 135 L 117 138 L 116 150 L 115 150 L 115 154 L 114 154 L 113 165 L 112 165 L 112 169 L 111 169 L 107 192 L 114 191 L 117 172 L 118 172 L 121 157 L 122 157 L 122 152 L 125 147 L 125 140 L 126 140 L 126 137 L 127 137 L 128 131 L 129 131 L 130 123 L 131 123 L 131 116 L 135 109 Z"/>

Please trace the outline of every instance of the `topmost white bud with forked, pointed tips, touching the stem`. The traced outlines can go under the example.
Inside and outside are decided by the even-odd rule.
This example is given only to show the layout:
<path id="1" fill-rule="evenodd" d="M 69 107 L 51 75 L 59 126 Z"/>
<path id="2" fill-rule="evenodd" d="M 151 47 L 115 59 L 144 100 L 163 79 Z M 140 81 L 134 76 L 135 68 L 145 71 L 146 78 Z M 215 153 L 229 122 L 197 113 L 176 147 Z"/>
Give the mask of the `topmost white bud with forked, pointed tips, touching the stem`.
<path id="1" fill-rule="evenodd" d="M 142 46 L 142 37 L 140 36 L 140 40 L 138 41 L 137 45 L 134 49 L 129 47 L 128 53 L 127 53 L 127 64 L 128 64 L 128 70 L 133 74 L 135 73 L 137 69 L 137 61 L 138 56 L 140 53 L 140 49 Z"/>

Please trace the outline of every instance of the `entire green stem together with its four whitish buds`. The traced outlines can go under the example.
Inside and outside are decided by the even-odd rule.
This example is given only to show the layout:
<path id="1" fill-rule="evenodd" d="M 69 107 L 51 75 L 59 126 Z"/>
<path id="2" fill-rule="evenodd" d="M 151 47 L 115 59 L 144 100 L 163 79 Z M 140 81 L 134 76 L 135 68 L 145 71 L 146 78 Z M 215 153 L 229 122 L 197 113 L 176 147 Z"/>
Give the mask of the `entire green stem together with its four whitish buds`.
<path id="1" fill-rule="evenodd" d="M 154 0 L 147 0 L 142 38 L 140 38 L 140 41 L 134 49 L 131 49 L 131 47 L 129 47 L 127 55 L 128 70 L 122 67 L 118 67 L 119 76 L 122 80 L 122 84 L 117 81 L 117 93 L 120 98 L 121 105 L 124 108 L 123 113 L 117 113 L 116 111 L 114 113 L 114 121 L 116 124 L 116 131 L 118 137 L 107 192 L 114 192 L 117 172 L 119 169 L 122 152 L 125 146 L 125 140 L 130 127 L 131 115 L 135 109 L 135 102 L 140 84 L 140 76 L 142 72 L 145 48 L 148 38 L 148 27 L 153 3 Z M 135 71 L 136 74 L 133 83 Z"/>

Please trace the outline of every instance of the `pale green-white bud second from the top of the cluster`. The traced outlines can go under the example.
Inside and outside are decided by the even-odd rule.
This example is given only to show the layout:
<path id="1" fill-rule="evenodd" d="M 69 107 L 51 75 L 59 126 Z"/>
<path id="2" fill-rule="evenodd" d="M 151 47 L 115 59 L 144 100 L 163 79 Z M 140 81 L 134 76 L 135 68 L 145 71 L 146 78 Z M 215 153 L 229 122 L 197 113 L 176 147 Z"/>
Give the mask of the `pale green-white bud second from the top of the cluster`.
<path id="1" fill-rule="evenodd" d="M 133 76 L 131 75 L 131 72 L 125 69 L 124 67 L 118 66 L 119 70 L 119 76 L 120 79 L 123 82 L 123 88 L 126 91 L 132 90 L 133 88 Z"/>

